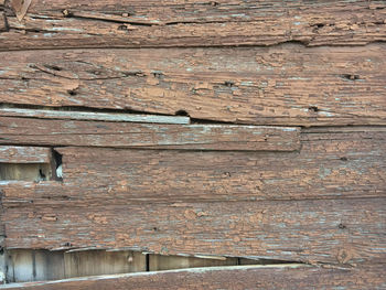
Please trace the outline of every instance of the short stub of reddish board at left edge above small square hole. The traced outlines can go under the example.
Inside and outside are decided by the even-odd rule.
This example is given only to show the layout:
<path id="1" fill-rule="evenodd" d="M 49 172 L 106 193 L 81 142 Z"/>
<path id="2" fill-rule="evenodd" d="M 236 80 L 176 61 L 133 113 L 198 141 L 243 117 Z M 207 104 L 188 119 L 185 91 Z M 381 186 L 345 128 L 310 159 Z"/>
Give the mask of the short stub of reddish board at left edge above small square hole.
<path id="1" fill-rule="evenodd" d="M 50 148 L 0 146 L 1 163 L 50 163 L 51 155 Z"/>

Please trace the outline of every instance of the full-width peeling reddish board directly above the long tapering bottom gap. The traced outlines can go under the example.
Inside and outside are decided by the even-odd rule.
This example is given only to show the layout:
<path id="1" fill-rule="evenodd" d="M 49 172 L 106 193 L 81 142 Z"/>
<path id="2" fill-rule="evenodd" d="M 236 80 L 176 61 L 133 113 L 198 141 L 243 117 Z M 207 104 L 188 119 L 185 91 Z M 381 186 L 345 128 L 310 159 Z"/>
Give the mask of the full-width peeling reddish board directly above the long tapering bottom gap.
<path id="1" fill-rule="evenodd" d="M 4 202 L 6 247 L 126 248 L 352 266 L 386 258 L 385 197 L 173 204 L 31 201 L 18 207 Z"/>

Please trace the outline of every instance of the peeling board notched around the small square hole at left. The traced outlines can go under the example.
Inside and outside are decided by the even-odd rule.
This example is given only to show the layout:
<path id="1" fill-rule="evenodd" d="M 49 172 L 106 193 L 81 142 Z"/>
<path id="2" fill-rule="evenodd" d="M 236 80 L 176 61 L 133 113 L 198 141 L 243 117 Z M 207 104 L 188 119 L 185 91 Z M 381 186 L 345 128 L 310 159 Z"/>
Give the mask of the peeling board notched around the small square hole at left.
<path id="1" fill-rule="evenodd" d="M 19 128 L 11 137 L 18 132 L 28 137 Z M 1 189 L 3 202 L 14 205 L 30 198 L 121 204 L 385 196 L 385 139 L 386 129 L 373 127 L 309 130 L 292 152 L 57 148 L 63 183 L 8 182 Z"/>

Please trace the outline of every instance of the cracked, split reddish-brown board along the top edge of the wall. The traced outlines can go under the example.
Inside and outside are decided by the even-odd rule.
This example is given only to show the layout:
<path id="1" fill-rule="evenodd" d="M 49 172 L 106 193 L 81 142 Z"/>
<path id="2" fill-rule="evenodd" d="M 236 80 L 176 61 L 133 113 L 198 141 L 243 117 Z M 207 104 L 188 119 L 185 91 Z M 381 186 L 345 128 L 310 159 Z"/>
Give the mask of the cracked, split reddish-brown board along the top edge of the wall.
<path id="1" fill-rule="evenodd" d="M 8 1 L 9 3 L 11 1 Z M 1 8 L 0 8 L 1 9 Z M 0 50 L 363 45 L 386 40 L 384 1 L 32 1 L 19 21 L 6 7 Z"/>

